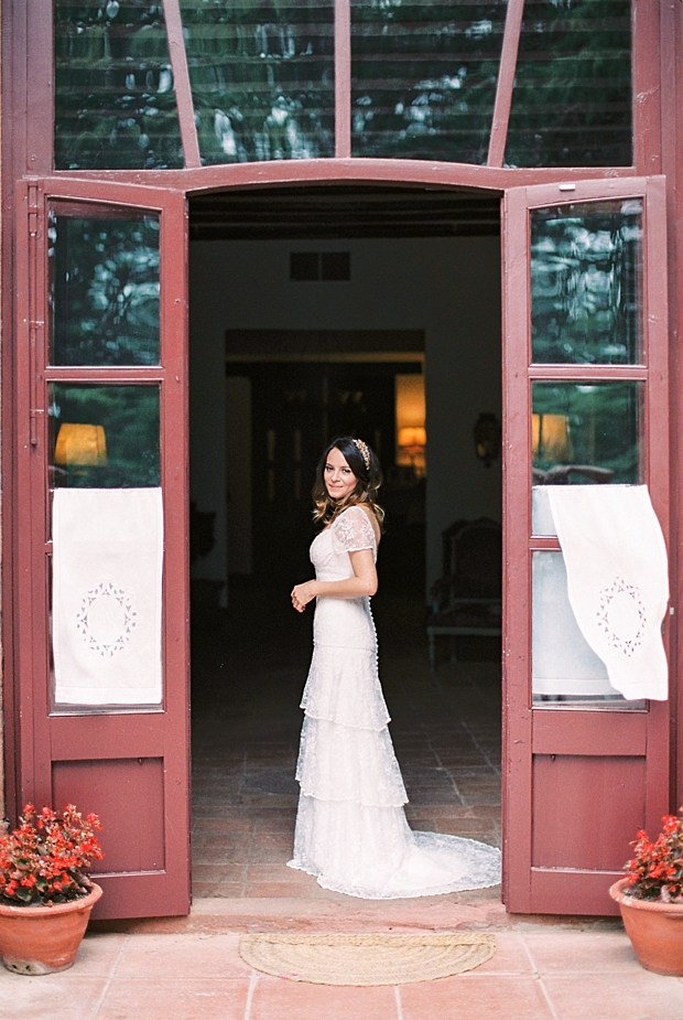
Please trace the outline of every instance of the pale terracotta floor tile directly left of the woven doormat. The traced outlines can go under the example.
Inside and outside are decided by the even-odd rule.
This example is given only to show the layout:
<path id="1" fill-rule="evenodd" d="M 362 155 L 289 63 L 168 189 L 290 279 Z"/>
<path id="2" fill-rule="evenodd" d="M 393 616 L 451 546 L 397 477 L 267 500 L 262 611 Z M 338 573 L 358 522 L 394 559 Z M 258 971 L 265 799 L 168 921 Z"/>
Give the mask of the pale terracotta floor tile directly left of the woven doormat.
<path id="1" fill-rule="evenodd" d="M 130 937 L 116 973 L 119 978 L 164 980 L 249 978 L 237 953 L 239 935 L 143 935 Z"/>

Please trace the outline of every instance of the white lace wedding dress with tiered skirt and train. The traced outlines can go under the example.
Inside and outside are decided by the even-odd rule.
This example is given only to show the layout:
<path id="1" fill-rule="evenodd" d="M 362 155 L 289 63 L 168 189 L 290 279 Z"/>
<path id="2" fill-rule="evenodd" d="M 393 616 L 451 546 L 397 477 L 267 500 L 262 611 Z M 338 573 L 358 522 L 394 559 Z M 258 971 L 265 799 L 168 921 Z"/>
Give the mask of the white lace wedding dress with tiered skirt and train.
<path id="1" fill-rule="evenodd" d="M 354 576 L 349 552 L 377 541 L 351 506 L 311 546 L 318 581 Z M 474 839 L 413 833 L 387 729 L 370 600 L 317 600 L 296 779 L 291 868 L 325 889 L 370 900 L 481 889 L 500 881 L 500 851 Z"/>

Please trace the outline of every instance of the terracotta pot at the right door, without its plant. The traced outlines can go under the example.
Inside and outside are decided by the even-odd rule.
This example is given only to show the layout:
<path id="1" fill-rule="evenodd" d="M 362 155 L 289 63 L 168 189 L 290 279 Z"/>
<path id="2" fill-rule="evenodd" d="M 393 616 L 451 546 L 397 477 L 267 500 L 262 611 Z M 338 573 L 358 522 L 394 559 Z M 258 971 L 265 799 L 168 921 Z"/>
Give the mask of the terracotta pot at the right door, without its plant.
<path id="1" fill-rule="evenodd" d="M 683 977 L 683 903 L 636 900 L 624 894 L 628 879 L 609 890 L 621 911 L 626 934 L 647 970 Z"/>

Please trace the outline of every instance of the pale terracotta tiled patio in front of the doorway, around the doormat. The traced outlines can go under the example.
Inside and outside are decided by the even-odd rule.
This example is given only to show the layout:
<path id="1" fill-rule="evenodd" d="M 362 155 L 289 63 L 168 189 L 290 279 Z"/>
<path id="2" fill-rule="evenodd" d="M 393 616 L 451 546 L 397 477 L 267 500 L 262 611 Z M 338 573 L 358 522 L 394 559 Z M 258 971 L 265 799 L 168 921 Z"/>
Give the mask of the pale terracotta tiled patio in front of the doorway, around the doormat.
<path id="1" fill-rule="evenodd" d="M 476 970 L 376 988 L 251 970 L 236 934 L 89 934 L 76 966 L 0 967 L 0 1020 L 683 1020 L 683 981 L 642 970 L 612 922 L 496 934 Z"/>

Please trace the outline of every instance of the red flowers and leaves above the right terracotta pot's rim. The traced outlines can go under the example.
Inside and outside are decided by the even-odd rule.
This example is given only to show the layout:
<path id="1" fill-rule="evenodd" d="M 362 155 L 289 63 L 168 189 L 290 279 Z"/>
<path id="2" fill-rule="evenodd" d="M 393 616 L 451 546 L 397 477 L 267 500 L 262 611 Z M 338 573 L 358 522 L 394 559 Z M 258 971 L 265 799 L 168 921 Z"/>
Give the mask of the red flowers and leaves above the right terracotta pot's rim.
<path id="1" fill-rule="evenodd" d="M 627 895 L 662 903 L 683 903 L 683 807 L 680 816 L 665 815 L 664 828 L 652 842 L 641 829 L 631 844 L 636 856 L 624 866 Z"/>

